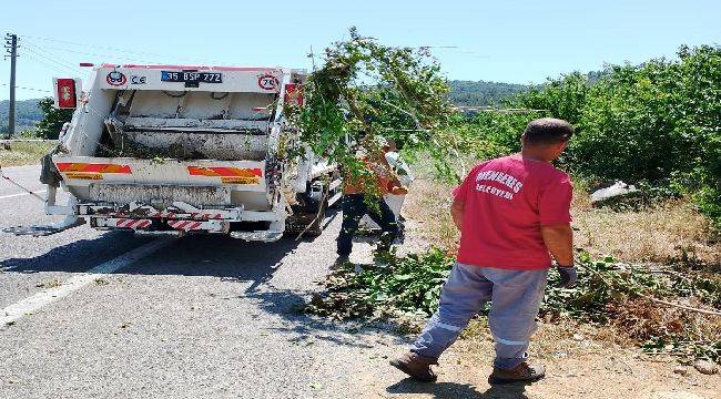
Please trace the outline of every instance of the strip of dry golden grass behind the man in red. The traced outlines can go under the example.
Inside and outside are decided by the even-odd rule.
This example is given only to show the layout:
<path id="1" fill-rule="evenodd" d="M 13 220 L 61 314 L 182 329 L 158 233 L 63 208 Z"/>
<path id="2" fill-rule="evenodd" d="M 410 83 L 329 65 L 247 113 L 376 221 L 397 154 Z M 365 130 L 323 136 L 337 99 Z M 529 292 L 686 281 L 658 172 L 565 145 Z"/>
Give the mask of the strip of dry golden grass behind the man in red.
<path id="1" fill-rule="evenodd" d="M 404 203 L 404 214 L 419 224 L 422 238 L 454 250 L 458 232 L 449 214 L 450 186 L 419 178 Z M 431 212 L 429 212 L 431 211 Z M 572 206 L 575 245 L 593 256 L 611 255 L 628 263 L 702 263 L 721 269 L 721 242 L 708 218 L 683 201 L 640 212 L 593 208 L 588 193 L 577 190 Z"/>

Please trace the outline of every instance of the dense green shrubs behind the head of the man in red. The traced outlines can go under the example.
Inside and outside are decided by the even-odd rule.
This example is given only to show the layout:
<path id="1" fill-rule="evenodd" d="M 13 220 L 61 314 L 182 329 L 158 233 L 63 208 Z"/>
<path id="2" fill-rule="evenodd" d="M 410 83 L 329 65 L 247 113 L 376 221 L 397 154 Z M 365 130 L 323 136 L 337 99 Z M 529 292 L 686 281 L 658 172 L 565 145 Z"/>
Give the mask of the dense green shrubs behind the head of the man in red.
<path id="1" fill-rule="evenodd" d="M 560 117 L 576 136 L 559 158 L 590 182 L 622 180 L 669 187 L 721 227 L 721 47 L 682 47 L 677 60 L 610 65 L 591 83 L 571 73 L 519 93 L 507 105 L 455 126 L 480 158 L 518 150 L 526 123 Z"/>

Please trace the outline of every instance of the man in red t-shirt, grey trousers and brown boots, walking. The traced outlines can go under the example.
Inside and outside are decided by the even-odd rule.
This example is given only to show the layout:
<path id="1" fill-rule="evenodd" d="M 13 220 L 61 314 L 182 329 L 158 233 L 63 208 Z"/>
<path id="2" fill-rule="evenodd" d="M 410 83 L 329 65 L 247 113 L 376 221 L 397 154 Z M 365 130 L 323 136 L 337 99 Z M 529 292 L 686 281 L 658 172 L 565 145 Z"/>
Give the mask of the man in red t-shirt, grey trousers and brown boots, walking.
<path id="1" fill-rule="evenodd" d="M 430 365 L 437 365 L 469 319 L 490 301 L 488 325 L 496 359 L 489 382 L 545 376 L 542 366 L 527 362 L 527 350 L 551 256 L 562 286 L 572 286 L 577 278 L 571 182 L 551 165 L 572 135 L 566 121 L 531 121 L 520 154 L 480 163 L 454 190 L 450 213 L 460 231 L 457 263 L 443 286 L 438 310 L 410 351 L 390 361 L 394 367 L 434 381 Z"/>

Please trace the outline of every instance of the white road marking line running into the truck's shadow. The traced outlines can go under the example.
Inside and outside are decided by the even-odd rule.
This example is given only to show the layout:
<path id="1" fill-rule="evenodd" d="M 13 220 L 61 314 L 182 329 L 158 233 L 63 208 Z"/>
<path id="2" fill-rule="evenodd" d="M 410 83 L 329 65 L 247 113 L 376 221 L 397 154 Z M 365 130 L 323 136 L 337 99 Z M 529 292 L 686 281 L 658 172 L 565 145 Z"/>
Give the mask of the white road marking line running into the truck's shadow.
<path id="1" fill-rule="evenodd" d="M 28 298 L 19 300 L 0 310 L 0 329 L 7 328 L 8 325 L 21 319 L 28 314 L 32 314 L 45 305 L 64 298 L 88 284 L 92 283 L 102 275 L 116 272 L 143 257 L 151 255 L 155 250 L 169 245 L 173 237 L 161 237 L 138 248 L 126 252 L 114 259 L 102 263 L 87 273 L 77 275 L 57 287 L 47 288 Z"/>

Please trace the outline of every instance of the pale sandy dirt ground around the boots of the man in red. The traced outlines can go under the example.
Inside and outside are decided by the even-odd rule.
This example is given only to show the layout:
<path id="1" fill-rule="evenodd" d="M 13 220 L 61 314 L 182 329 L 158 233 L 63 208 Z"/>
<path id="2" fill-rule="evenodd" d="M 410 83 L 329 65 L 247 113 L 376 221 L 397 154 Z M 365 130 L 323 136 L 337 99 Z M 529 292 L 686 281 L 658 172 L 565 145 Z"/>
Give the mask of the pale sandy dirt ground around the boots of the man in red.
<path id="1" fill-rule="evenodd" d="M 532 361 L 546 365 L 547 377 L 531 385 L 491 387 L 492 341 L 488 335 L 458 340 L 435 367 L 438 381 L 416 382 L 387 366 L 387 358 L 359 378 L 365 398 L 721 398 L 721 376 L 705 376 L 673 358 L 649 357 L 638 349 L 599 341 L 585 334 L 558 338 L 557 326 L 542 325 L 531 346 Z M 676 369 L 676 372 L 674 372 Z"/>

